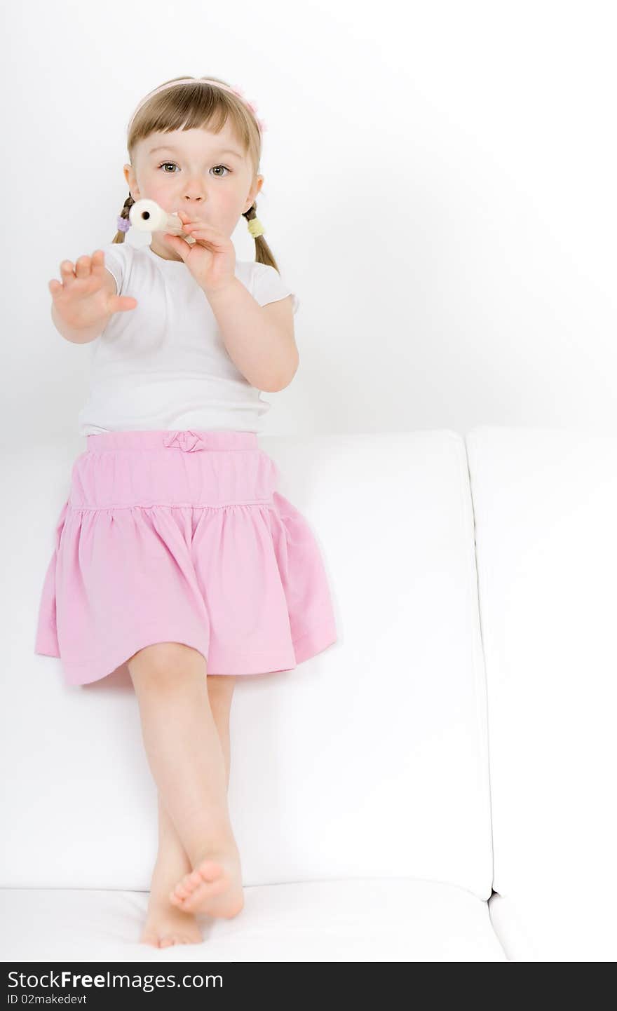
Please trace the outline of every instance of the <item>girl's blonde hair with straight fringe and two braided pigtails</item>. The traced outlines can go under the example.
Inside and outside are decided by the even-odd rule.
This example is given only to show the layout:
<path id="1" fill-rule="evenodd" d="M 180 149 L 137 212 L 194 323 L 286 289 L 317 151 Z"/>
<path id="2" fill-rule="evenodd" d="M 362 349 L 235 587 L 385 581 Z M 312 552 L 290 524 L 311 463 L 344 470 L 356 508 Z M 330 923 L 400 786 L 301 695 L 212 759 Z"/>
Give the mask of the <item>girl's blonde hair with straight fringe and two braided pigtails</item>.
<path id="1" fill-rule="evenodd" d="M 170 87 L 165 88 L 158 95 L 153 95 L 134 117 L 126 139 L 126 148 L 131 164 L 137 145 L 151 133 L 166 132 L 181 127 L 185 129 L 204 128 L 218 133 L 230 119 L 234 131 L 244 148 L 245 155 L 248 155 L 254 166 L 255 176 L 257 176 L 261 158 L 261 133 L 255 116 L 248 106 L 235 94 L 225 91 L 223 88 L 216 88 L 215 85 L 208 84 L 205 80 L 197 77 L 194 79 L 194 85 L 179 84 L 177 87 L 173 87 L 174 81 L 183 80 L 182 77 L 174 77 L 171 81 L 165 81 L 164 83 L 169 84 Z M 217 77 L 207 80 L 228 84 L 227 81 Z M 120 211 L 121 217 L 128 217 L 128 211 L 134 203 L 135 200 L 129 193 Z M 243 211 L 243 215 L 247 221 L 257 217 L 257 203 L 254 202 L 248 210 Z M 123 243 L 124 233 L 116 232 L 112 242 Z M 263 236 L 257 236 L 255 239 L 255 260 L 257 263 L 265 263 L 278 270 L 276 260 Z"/>

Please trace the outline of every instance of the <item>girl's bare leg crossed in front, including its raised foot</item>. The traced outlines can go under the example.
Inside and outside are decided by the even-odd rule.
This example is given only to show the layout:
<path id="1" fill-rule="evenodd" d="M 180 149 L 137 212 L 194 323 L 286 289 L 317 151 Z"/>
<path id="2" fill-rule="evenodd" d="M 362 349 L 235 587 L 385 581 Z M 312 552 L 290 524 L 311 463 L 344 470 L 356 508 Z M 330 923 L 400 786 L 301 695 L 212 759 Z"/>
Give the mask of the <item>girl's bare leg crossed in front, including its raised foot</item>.
<path id="1" fill-rule="evenodd" d="M 242 869 L 204 657 L 183 643 L 156 643 L 127 666 L 150 767 L 193 868 L 170 891 L 170 902 L 192 913 L 236 916 L 244 906 Z"/>

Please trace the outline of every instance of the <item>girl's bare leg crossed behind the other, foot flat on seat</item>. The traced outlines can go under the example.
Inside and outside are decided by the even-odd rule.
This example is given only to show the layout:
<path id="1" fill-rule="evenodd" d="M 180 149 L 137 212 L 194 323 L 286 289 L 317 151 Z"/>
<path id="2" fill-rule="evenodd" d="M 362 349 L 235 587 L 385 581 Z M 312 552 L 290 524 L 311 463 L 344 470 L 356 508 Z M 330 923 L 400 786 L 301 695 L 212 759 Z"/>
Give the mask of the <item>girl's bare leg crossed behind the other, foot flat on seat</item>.
<path id="1" fill-rule="evenodd" d="M 230 710 L 236 678 L 208 674 L 206 686 L 208 700 L 226 766 L 226 783 L 230 782 Z M 148 915 L 141 941 L 155 947 L 171 944 L 199 943 L 201 930 L 194 913 L 184 912 L 169 901 L 169 893 L 183 877 L 190 874 L 190 860 L 182 845 L 159 792 L 159 852 L 150 886 Z"/>

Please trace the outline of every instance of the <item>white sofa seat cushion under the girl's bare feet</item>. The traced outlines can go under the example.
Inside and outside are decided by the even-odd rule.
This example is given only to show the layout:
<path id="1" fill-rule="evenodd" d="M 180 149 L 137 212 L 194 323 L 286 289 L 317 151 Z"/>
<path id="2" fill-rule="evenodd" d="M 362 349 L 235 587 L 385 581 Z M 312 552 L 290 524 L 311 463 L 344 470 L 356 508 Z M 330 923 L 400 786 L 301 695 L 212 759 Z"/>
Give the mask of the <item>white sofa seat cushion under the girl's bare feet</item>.
<path id="1" fill-rule="evenodd" d="M 200 916 L 201 944 L 140 943 L 143 892 L 2 892 L 6 961 L 506 961 L 487 903 L 439 882 L 261 885 L 233 920 Z"/>

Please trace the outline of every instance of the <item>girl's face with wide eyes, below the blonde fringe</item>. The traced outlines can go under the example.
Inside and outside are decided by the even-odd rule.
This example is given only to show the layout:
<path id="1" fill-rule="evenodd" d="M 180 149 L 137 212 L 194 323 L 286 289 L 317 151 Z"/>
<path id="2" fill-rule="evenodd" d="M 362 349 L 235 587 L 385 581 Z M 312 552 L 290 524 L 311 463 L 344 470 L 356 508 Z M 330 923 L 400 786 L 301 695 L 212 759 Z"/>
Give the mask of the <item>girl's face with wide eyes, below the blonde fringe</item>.
<path id="1" fill-rule="evenodd" d="M 134 200 L 156 200 L 170 214 L 184 210 L 228 238 L 263 185 L 263 176 L 253 178 L 229 121 L 219 133 L 203 128 L 151 133 L 138 145 L 135 168 L 124 166 L 124 178 Z M 166 260 L 181 259 L 163 236 L 153 232 L 151 249 Z"/>

